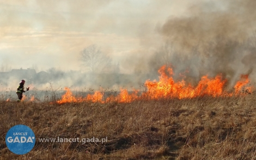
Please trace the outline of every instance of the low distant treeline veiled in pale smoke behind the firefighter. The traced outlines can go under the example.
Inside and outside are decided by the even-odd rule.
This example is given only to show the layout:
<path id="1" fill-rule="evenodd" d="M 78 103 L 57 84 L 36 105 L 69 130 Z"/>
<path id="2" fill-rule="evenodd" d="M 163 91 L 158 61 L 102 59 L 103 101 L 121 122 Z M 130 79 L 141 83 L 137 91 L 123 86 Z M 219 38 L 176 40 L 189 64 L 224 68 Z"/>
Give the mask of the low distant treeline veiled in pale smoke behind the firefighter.
<path id="1" fill-rule="evenodd" d="M 0 72 L 0 83 L 12 85 L 25 79 L 26 85 L 58 84 L 62 87 L 136 87 L 143 85 L 147 79 L 158 79 L 147 74 L 123 73 L 84 73 L 81 71 L 60 71 L 56 69 L 36 73 L 34 69 L 13 69 L 10 72 Z"/>

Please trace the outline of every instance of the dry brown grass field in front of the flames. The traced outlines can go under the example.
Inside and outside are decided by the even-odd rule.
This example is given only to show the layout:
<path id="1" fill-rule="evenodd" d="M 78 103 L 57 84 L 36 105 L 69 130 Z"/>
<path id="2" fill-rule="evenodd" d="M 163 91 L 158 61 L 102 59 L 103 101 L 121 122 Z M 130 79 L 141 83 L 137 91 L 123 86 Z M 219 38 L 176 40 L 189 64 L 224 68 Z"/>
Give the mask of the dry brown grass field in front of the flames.
<path id="1" fill-rule="evenodd" d="M 132 103 L 0 102 L 0 159 L 255 159 L 256 96 Z M 32 128 L 33 150 L 15 155 L 5 135 Z M 38 138 L 108 138 L 40 143 Z"/>

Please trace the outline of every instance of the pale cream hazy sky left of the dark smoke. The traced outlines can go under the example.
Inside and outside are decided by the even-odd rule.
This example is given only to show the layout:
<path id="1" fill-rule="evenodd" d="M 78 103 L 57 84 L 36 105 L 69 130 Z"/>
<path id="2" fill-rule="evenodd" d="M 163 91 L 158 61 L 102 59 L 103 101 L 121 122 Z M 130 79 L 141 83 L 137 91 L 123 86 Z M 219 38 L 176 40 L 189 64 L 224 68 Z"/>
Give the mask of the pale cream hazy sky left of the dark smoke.
<path id="1" fill-rule="evenodd" d="M 120 63 L 157 50 L 168 17 L 186 16 L 187 0 L 0 1 L 0 65 L 80 70 L 79 53 L 96 44 Z M 129 67 L 129 66 L 128 66 Z"/>

